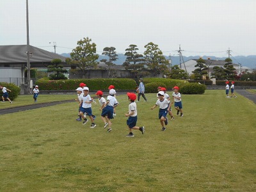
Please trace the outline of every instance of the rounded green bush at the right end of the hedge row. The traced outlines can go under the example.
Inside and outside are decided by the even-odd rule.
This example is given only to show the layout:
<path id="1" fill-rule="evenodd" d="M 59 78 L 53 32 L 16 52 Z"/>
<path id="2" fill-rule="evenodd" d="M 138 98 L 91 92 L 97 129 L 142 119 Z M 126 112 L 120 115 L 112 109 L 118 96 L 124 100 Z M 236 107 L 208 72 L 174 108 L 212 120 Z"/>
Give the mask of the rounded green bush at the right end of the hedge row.
<path id="1" fill-rule="evenodd" d="M 206 86 L 199 83 L 186 83 L 180 87 L 179 92 L 182 94 L 204 94 Z"/>

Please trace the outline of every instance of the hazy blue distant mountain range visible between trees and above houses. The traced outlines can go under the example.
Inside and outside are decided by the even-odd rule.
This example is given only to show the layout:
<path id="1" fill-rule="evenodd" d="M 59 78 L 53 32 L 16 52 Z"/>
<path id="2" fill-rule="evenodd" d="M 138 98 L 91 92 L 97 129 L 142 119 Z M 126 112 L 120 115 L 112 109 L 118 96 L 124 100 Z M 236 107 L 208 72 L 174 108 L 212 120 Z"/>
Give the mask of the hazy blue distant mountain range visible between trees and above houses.
<path id="1" fill-rule="evenodd" d="M 64 56 L 66 58 L 70 58 L 70 54 L 69 53 L 61 53 L 61 56 Z M 97 61 L 103 60 L 103 59 L 107 59 L 107 56 L 104 55 L 99 55 L 99 59 Z M 168 60 L 169 56 L 165 56 L 165 58 Z M 193 60 L 193 59 L 198 59 L 200 58 L 200 56 L 183 56 L 183 60 L 188 61 L 188 60 Z M 207 60 L 207 58 L 210 58 L 211 60 L 225 60 L 226 58 L 216 58 L 215 56 L 202 56 L 202 58 L 204 60 Z M 118 54 L 118 60 L 113 62 L 116 65 L 122 65 L 124 63 L 126 59 L 126 56 L 124 54 Z M 173 65 L 179 65 L 180 64 L 180 60 L 181 63 L 183 63 L 182 58 L 180 58 L 179 56 L 172 56 L 171 57 L 172 60 L 172 66 Z M 237 64 L 241 64 L 242 66 L 245 67 L 249 67 L 249 68 L 256 68 L 256 55 L 251 55 L 251 56 L 232 56 L 231 60 L 233 61 L 233 63 L 237 63 Z"/>

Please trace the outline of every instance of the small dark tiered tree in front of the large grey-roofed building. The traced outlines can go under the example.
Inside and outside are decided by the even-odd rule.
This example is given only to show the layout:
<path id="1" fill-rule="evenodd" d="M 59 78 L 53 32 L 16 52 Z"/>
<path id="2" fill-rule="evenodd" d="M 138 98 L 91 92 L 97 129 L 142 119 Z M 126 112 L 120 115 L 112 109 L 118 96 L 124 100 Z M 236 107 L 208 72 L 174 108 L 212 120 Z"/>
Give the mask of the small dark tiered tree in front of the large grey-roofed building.
<path id="1" fill-rule="evenodd" d="M 64 76 L 63 73 L 67 73 L 66 69 L 63 69 L 63 65 L 60 65 L 61 60 L 60 59 L 54 59 L 51 61 L 52 65 L 48 65 L 47 72 L 53 72 L 49 76 L 49 79 L 52 80 L 58 80 L 58 79 L 67 79 L 67 77 Z"/>

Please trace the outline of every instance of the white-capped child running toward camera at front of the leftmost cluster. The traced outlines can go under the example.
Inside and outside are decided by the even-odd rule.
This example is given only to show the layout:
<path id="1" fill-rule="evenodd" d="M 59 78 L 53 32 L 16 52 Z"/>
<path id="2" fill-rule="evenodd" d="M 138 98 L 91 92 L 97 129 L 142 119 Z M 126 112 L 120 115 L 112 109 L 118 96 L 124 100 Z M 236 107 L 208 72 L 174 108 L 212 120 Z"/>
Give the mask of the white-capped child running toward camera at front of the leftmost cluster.
<path id="1" fill-rule="evenodd" d="M 86 119 L 86 117 L 84 116 L 84 113 L 86 113 L 92 122 L 92 125 L 90 126 L 90 128 L 94 128 L 96 127 L 96 124 L 94 123 L 94 119 L 92 116 L 92 98 L 88 94 L 89 88 L 85 86 L 83 88 L 83 92 L 84 92 L 83 100 L 81 101 L 81 108 L 80 108 L 80 115 L 84 119 L 83 125 L 85 125 L 88 122 L 88 119 Z"/>

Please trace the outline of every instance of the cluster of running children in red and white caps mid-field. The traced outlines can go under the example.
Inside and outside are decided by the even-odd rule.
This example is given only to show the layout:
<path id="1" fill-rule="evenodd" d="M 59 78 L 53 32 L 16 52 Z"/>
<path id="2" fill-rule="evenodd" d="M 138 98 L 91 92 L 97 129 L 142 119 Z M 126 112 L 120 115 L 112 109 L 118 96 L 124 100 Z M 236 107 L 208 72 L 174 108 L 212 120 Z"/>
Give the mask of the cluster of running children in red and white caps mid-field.
<path id="1" fill-rule="evenodd" d="M 118 101 L 116 100 L 116 91 L 115 86 L 110 85 L 109 86 L 109 95 L 107 99 L 103 97 L 103 92 L 101 90 L 97 91 L 95 95 L 97 95 L 99 99 L 100 108 L 99 110 L 101 112 L 101 119 L 104 122 L 104 129 L 108 127 L 107 132 L 112 131 L 111 128 L 111 119 L 113 119 L 115 114 L 115 108 L 118 106 Z M 86 84 L 81 83 L 79 84 L 79 88 L 76 89 L 77 91 L 77 99 L 79 102 L 79 118 L 77 120 L 81 121 L 83 120 L 83 125 L 88 122 L 88 119 L 86 118 L 86 115 L 89 116 L 92 125 L 90 128 L 96 127 L 96 124 L 94 122 L 95 116 L 93 118 L 92 115 L 92 102 L 95 102 L 92 97 L 90 97 L 89 88 L 86 86 Z M 134 137 L 134 134 L 132 130 L 139 130 L 142 134 L 145 132 L 145 127 L 136 126 L 137 123 L 137 106 L 136 106 L 136 99 L 137 96 L 135 93 L 127 93 L 128 100 L 129 100 L 129 106 L 128 106 L 128 112 L 125 113 L 125 116 L 128 117 L 127 119 L 127 127 L 129 129 L 129 134 L 127 134 L 127 137 Z M 172 114 L 171 105 L 174 102 L 174 107 L 177 110 L 177 115 L 183 116 L 182 113 L 182 102 L 181 102 L 181 96 L 179 93 L 179 87 L 175 86 L 173 87 L 173 101 L 170 102 L 170 97 L 166 93 L 166 88 L 159 87 L 158 93 L 157 93 L 157 101 L 156 104 L 151 108 L 154 109 L 157 106 L 159 106 L 159 120 L 162 126 L 162 131 L 166 130 L 166 127 L 164 125 L 168 124 L 168 118 L 167 114 L 171 116 L 171 119 L 174 119 Z"/>

